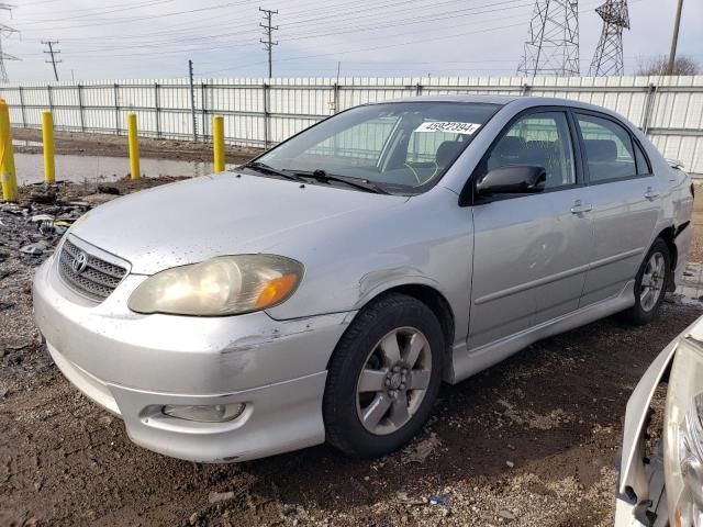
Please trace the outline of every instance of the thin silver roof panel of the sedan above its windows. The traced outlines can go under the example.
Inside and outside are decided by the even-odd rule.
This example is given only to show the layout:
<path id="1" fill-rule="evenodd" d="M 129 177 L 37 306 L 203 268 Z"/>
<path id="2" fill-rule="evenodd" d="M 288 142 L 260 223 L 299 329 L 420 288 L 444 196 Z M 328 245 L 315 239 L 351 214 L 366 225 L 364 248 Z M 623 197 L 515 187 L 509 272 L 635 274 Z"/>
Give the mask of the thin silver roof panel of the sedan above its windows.
<path id="1" fill-rule="evenodd" d="M 571 106 L 581 108 L 583 110 L 593 110 L 601 113 L 613 115 L 623 121 L 623 116 L 603 106 L 589 104 L 587 102 L 573 99 L 560 99 L 556 97 L 522 97 L 522 96 L 482 96 L 482 94 L 454 94 L 454 96 L 419 96 L 403 97 L 386 101 L 371 102 L 369 104 L 383 104 L 387 102 L 457 102 L 457 103 L 484 103 L 499 104 L 502 106 L 511 105 L 516 112 L 532 106 Z"/>

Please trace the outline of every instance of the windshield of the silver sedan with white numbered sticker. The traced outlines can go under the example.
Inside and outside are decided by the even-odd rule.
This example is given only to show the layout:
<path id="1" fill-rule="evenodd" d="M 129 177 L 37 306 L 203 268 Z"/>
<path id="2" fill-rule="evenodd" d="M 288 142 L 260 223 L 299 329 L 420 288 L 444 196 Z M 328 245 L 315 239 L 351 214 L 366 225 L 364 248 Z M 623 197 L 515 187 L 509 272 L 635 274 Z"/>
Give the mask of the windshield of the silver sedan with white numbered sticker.
<path id="1" fill-rule="evenodd" d="M 417 192 L 444 175 L 498 109 L 454 102 L 358 106 L 302 132 L 256 161 L 269 170 L 326 177 L 325 181 L 341 176 L 388 191 Z"/>

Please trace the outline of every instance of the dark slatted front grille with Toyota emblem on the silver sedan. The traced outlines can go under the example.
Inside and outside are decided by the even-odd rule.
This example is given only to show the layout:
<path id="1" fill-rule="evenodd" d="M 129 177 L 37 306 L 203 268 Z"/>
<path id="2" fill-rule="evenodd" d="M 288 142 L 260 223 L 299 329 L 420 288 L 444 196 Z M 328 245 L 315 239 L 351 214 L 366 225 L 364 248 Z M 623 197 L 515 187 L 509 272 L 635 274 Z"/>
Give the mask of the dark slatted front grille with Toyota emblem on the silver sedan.
<path id="1" fill-rule="evenodd" d="M 81 254 L 86 255 L 86 266 L 77 272 L 74 262 Z M 78 294 L 100 302 L 114 291 L 127 270 L 80 249 L 67 239 L 58 257 L 58 273 Z"/>

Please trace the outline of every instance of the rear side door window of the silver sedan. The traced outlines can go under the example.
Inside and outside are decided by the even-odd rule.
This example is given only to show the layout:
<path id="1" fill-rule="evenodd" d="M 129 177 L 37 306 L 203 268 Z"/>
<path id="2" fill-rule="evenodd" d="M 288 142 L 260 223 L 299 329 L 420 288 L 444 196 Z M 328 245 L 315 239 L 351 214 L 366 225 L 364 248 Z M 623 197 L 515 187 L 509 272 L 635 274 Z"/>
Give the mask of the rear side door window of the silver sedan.
<path id="1" fill-rule="evenodd" d="M 577 113 L 577 122 L 583 137 L 584 157 L 591 182 L 637 176 L 629 132 L 610 119 L 594 115 Z"/>

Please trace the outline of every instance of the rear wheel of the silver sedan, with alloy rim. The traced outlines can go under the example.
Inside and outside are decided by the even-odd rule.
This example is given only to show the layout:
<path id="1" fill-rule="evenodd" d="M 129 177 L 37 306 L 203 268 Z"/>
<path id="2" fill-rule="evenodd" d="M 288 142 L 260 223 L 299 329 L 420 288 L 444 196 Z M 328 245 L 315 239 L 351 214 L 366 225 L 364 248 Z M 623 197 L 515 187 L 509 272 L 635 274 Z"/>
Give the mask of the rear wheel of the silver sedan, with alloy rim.
<path id="1" fill-rule="evenodd" d="M 671 254 L 667 243 L 657 238 L 639 266 L 635 278 L 635 305 L 623 313 L 631 324 L 644 325 L 659 314 L 669 280 Z"/>

